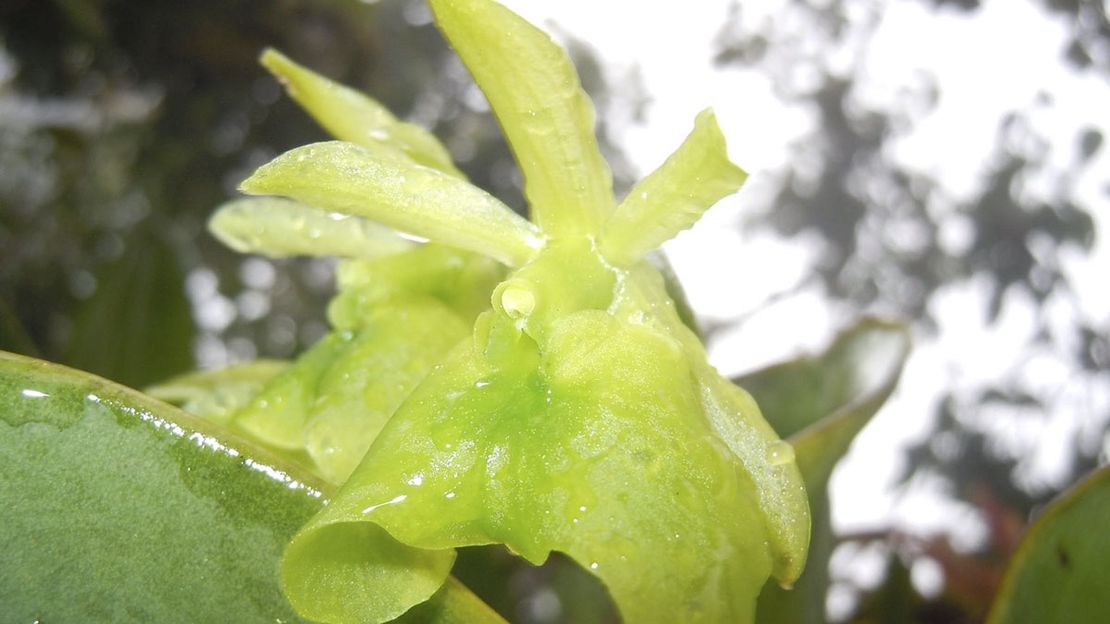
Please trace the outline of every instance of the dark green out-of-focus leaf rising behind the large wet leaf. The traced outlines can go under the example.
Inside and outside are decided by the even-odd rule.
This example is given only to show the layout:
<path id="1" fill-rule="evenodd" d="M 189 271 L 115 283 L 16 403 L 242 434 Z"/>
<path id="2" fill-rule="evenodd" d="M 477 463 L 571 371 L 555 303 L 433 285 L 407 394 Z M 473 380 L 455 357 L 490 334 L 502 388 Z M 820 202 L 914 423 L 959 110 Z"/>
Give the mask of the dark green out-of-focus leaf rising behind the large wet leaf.
<path id="1" fill-rule="evenodd" d="M 78 309 L 64 362 L 135 386 L 192 369 L 196 328 L 184 282 L 168 241 L 131 236 Z"/>

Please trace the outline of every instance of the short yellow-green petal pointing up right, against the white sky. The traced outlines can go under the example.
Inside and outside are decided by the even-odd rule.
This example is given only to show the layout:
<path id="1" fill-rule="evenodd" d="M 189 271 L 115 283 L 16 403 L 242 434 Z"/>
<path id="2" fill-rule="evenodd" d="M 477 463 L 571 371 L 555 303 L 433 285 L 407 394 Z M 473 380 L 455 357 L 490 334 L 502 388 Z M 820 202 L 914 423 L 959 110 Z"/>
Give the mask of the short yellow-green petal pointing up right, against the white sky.
<path id="1" fill-rule="evenodd" d="M 712 110 L 662 167 L 628 191 L 598 241 L 609 261 L 629 265 L 694 224 L 722 198 L 735 193 L 747 173 L 728 160 L 725 137 Z"/>

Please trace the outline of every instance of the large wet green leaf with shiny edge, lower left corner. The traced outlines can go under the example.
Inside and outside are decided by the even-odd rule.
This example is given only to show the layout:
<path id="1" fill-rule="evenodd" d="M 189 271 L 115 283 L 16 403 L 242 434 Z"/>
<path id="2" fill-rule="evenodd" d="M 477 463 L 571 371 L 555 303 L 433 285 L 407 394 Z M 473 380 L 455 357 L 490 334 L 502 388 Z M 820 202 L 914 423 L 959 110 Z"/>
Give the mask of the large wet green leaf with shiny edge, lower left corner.
<path id="1" fill-rule="evenodd" d="M 278 561 L 319 487 L 175 407 L 0 353 L 3 620 L 297 621 Z"/>

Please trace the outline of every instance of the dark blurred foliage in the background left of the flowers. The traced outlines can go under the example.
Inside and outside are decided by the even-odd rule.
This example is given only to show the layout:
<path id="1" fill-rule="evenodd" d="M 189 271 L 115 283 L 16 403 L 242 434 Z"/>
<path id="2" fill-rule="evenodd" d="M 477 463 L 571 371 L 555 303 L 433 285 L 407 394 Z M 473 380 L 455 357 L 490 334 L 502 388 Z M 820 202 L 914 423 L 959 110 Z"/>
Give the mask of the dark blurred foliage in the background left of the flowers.
<path id="1" fill-rule="evenodd" d="M 204 229 L 254 167 L 326 139 L 258 64 L 268 46 L 432 128 L 523 210 L 496 123 L 422 2 L 3 2 L 0 349 L 141 386 L 198 359 L 287 358 L 324 332 L 330 262 L 244 258 Z M 604 110 L 599 68 L 573 48 Z"/>

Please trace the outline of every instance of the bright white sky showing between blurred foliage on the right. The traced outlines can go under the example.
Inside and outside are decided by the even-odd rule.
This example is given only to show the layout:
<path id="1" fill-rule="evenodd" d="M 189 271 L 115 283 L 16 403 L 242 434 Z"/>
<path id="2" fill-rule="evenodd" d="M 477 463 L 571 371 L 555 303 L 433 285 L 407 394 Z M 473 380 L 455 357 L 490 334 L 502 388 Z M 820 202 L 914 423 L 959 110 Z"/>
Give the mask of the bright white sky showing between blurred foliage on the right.
<path id="1" fill-rule="evenodd" d="M 678 145 L 699 110 L 707 105 L 716 110 L 729 138 L 733 160 L 753 177 L 736 199 L 722 202 L 697 228 L 667 246 L 703 318 L 727 321 L 745 316 L 766 298 L 806 276 L 816 255 L 813 242 L 753 235 L 736 228 L 751 204 L 745 197 L 759 194 L 760 177 L 787 161 L 787 145 L 811 122 L 804 112 L 786 109 L 766 78 L 713 67 L 714 41 L 729 14 L 729 0 L 688 1 L 680 8 L 670 2 L 634 0 L 503 1 L 556 39 L 569 34 L 588 42 L 598 52 L 610 83 L 638 68 L 652 103 L 643 124 L 618 129 L 615 139 L 642 173 L 654 169 Z M 866 53 L 869 80 L 864 97 L 868 101 L 881 103 L 892 98 L 916 70 L 927 70 L 938 79 L 941 97 L 937 108 L 895 147 L 891 158 L 937 175 L 957 197 L 967 197 L 975 192 L 979 174 L 988 167 L 998 122 L 1006 111 L 1035 111 L 1038 131 L 1053 138 L 1047 158 L 1058 171 L 1072 162 L 1080 123 L 1100 120 L 1098 127 L 1110 137 L 1106 114 L 1110 111 L 1110 85 L 1061 63 L 1064 28 L 1058 20 L 1028 0 L 987 0 L 972 17 L 936 13 L 929 4 L 889 2 Z M 751 19 L 753 12 L 773 14 L 779 6 L 748 2 L 744 10 Z M 1052 108 L 1035 104 L 1041 90 L 1053 93 Z M 1104 191 L 1106 172 L 1110 171 L 1107 152 L 1110 150 L 1101 151 L 1098 162 L 1074 185 L 1077 199 L 1094 209 L 1099 232 L 1110 232 L 1110 202 Z M 1078 312 L 1054 312 L 1061 326 L 1072 323 L 1077 314 L 1110 321 L 1110 289 L 1104 286 L 1110 248 L 1106 242 L 1097 244 L 1087 259 L 1081 254 L 1061 258 L 1083 293 Z M 758 270 L 745 274 L 743 291 L 720 288 L 720 272 L 735 275 L 737 268 L 748 266 Z M 938 392 L 946 385 L 971 388 L 999 379 L 1000 371 L 1008 370 L 1000 363 L 1006 359 L 1012 363 L 1015 349 L 1032 331 L 1036 309 L 1029 301 L 1016 301 L 999 328 L 988 328 L 983 293 L 982 283 L 969 282 L 937 298 L 940 339 L 919 342 L 897 396 L 860 436 L 834 479 L 834 515 L 841 529 L 894 524 L 932 531 L 959 523 L 975 525 L 968 510 L 939 502 L 929 484 L 900 499 L 889 486 L 901 461 L 899 449 L 928 431 Z M 710 356 L 723 372 L 734 373 L 817 349 L 835 329 L 823 306 L 826 304 L 818 293 L 804 292 L 746 318 L 744 328 L 727 334 Z M 1077 391 L 1069 385 L 1070 372 L 1061 369 L 1057 355 L 1047 353 L 1042 361 L 1032 363 L 1036 375 L 1047 379 L 1042 384 L 1057 384 L 1053 388 L 1060 392 L 1078 392 L 1077 401 L 1091 401 L 1110 412 L 1106 392 L 1084 394 L 1086 386 Z M 1003 434 L 1033 446 L 1038 440 L 1047 441 L 1038 449 L 1037 459 L 1050 477 L 1061 469 L 1059 453 L 1052 452 L 1051 444 L 1059 442 L 1061 431 L 1081 425 L 1056 419 L 1049 427 Z"/>

